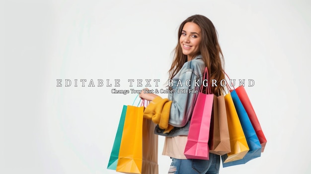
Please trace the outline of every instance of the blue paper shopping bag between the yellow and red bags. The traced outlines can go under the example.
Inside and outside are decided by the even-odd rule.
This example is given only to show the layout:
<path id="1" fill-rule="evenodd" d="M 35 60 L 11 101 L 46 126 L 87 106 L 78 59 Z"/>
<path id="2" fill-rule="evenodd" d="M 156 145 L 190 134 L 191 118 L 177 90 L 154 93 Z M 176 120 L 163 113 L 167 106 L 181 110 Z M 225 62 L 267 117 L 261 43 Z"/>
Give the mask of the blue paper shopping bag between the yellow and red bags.
<path id="1" fill-rule="evenodd" d="M 240 160 L 223 163 L 223 167 L 245 164 L 248 161 L 261 156 L 261 145 L 259 139 L 235 90 L 231 90 L 231 96 L 237 112 L 237 116 L 240 120 L 243 132 L 245 134 L 249 151 Z"/>

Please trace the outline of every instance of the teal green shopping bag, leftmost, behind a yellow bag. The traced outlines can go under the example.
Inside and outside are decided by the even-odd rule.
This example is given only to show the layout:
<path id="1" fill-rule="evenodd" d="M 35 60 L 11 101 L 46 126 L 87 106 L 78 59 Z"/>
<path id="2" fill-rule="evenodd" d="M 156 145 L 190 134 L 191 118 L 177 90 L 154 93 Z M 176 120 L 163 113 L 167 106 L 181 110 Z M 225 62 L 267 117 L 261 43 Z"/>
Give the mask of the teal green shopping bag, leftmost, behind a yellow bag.
<path id="1" fill-rule="evenodd" d="M 118 129 L 117 129 L 117 133 L 116 133 L 114 143 L 112 146 L 112 150 L 111 150 L 107 169 L 111 169 L 111 170 L 117 169 L 118 158 L 119 158 L 119 150 L 120 150 L 120 144 L 121 144 L 121 139 L 122 139 L 122 132 L 123 132 L 126 109 L 127 109 L 127 106 L 124 105 L 123 109 L 122 109 L 122 114 L 120 117 Z"/>

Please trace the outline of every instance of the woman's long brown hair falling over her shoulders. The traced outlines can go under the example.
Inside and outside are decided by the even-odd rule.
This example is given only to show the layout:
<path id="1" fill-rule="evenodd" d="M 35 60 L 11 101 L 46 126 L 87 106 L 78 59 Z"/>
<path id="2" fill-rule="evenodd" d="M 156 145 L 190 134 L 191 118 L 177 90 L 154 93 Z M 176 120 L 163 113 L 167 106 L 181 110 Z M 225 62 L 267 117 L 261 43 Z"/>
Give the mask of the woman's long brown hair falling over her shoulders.
<path id="1" fill-rule="evenodd" d="M 215 79 L 217 86 L 212 87 L 212 92 L 216 95 L 223 94 L 224 87 L 220 85 L 220 81 L 225 79 L 224 75 L 224 56 L 220 45 L 218 43 L 218 33 L 212 21 L 203 15 L 193 15 L 184 20 L 178 29 L 178 42 L 174 49 L 174 59 L 170 69 L 168 70 L 169 79 L 172 79 L 174 75 L 181 69 L 182 65 L 187 61 L 187 56 L 182 54 L 179 38 L 182 34 L 182 29 L 187 22 L 193 22 L 197 24 L 201 29 L 201 43 L 200 52 L 197 55 L 202 55 L 202 59 L 205 62 L 209 70 L 209 83 L 211 79 Z M 196 56 L 197 56 L 196 55 Z"/>

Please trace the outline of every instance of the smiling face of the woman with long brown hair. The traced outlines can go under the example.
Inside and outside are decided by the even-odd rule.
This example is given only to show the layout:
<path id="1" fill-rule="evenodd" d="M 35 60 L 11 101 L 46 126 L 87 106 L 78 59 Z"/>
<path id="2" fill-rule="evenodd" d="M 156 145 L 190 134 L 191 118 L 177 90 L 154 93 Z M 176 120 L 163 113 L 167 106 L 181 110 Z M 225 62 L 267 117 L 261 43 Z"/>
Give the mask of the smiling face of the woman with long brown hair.
<path id="1" fill-rule="evenodd" d="M 191 60 L 195 54 L 200 52 L 201 29 L 199 25 L 193 22 L 185 23 L 179 42 L 182 53 L 188 56 L 188 61 Z"/>

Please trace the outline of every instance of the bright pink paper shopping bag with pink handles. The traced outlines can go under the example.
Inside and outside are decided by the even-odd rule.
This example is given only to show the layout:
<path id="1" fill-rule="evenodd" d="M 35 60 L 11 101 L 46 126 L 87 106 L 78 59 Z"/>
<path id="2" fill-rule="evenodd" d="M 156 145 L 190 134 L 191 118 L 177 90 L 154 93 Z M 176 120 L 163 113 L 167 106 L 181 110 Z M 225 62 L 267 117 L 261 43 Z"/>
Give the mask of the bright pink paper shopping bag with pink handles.
<path id="1" fill-rule="evenodd" d="M 207 67 L 203 77 L 204 80 L 207 80 L 205 76 L 208 79 Z M 203 93 L 202 83 L 190 119 L 189 133 L 184 150 L 187 159 L 209 160 L 208 141 L 214 94 L 211 94 L 209 83 L 206 89 L 207 94 Z"/>

